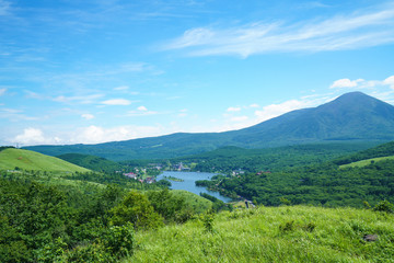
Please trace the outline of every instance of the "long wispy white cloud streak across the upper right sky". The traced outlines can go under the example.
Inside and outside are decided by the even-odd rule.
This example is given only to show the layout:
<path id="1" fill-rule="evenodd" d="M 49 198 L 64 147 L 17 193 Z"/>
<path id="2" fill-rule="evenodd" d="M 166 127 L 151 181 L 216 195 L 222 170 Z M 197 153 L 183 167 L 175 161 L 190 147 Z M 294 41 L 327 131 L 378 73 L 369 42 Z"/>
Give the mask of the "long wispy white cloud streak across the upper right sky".
<path id="1" fill-rule="evenodd" d="M 256 22 L 231 28 L 197 27 L 163 49 L 186 49 L 192 56 L 356 49 L 394 43 L 394 4 L 325 20 L 290 24 Z"/>

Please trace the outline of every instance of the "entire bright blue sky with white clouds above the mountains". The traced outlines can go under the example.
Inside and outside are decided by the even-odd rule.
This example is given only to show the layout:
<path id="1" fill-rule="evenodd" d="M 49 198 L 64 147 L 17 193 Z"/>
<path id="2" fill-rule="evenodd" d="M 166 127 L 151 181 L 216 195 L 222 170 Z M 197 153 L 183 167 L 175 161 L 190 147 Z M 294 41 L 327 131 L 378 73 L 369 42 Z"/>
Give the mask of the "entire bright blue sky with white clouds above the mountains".
<path id="1" fill-rule="evenodd" d="M 247 127 L 394 103 L 394 1 L 0 0 L 0 145 Z"/>

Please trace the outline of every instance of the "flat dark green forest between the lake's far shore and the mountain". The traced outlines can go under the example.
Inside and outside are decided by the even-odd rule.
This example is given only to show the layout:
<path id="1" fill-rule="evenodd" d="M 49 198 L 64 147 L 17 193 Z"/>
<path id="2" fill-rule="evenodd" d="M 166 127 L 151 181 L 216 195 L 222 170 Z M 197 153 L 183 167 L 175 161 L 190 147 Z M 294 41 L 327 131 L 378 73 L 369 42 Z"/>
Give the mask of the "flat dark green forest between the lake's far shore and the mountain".
<path id="1" fill-rule="evenodd" d="M 245 172 L 282 171 L 293 167 L 322 163 L 371 146 L 375 146 L 375 144 L 310 144 L 269 149 L 224 147 L 193 157 L 174 159 L 172 162 L 195 162 L 197 165 L 194 170 L 204 172 L 230 173 L 237 170 Z"/>

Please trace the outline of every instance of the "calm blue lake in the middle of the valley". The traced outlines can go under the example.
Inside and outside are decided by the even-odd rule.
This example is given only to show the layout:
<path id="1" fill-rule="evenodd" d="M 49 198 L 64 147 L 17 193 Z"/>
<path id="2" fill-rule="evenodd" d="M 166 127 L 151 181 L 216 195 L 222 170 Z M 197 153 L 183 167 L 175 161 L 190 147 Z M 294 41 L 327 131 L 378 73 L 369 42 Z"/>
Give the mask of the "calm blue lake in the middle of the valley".
<path id="1" fill-rule="evenodd" d="M 208 191 L 206 187 L 196 186 L 196 181 L 198 180 L 210 180 L 215 173 L 204 173 L 204 172 L 175 172 L 175 171 L 165 171 L 158 175 L 157 181 L 164 179 L 164 176 L 172 176 L 184 180 L 184 182 L 171 181 L 172 190 L 186 190 L 194 194 L 199 195 L 200 193 L 206 193 L 221 199 L 225 203 L 231 202 L 231 198 L 222 196 L 219 192 Z"/>

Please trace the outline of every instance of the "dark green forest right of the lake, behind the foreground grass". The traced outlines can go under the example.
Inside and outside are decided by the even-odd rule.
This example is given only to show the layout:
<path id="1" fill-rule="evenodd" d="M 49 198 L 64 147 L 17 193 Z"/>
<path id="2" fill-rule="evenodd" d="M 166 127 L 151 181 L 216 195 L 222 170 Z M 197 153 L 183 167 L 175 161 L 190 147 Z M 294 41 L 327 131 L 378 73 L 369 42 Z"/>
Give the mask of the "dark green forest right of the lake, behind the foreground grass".
<path id="1" fill-rule="evenodd" d="M 247 173 L 202 184 L 232 198 L 242 196 L 267 206 L 310 204 L 362 207 L 363 202 L 394 202 L 394 161 L 338 169 L 334 163 L 277 173 Z"/>

